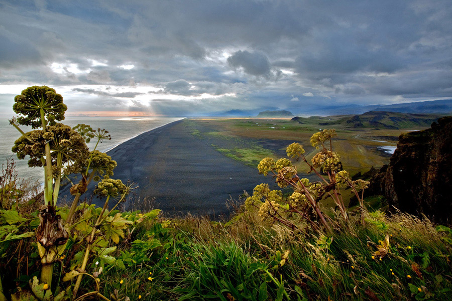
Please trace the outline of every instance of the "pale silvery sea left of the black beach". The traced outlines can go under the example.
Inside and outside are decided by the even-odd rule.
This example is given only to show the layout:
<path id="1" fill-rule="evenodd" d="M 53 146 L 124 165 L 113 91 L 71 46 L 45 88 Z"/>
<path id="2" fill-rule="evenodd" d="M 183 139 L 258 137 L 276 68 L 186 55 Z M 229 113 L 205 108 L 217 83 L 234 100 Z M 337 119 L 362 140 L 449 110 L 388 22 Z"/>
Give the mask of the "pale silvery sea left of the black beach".
<path id="1" fill-rule="evenodd" d="M 115 146 L 138 136 L 141 133 L 147 132 L 154 128 L 168 124 L 170 122 L 180 120 L 181 117 L 68 117 L 62 121 L 62 123 L 69 126 L 75 126 L 79 123 L 90 125 L 93 129 L 104 128 L 111 135 L 111 140 L 105 140 L 99 143 L 97 149 L 100 152 L 107 152 Z M 27 132 L 31 128 L 21 126 L 21 128 Z M 6 166 L 8 158 L 13 158 L 16 162 L 18 176 L 20 178 L 32 179 L 33 181 L 44 181 L 44 171 L 42 168 L 28 167 L 28 160 L 19 160 L 16 154 L 11 152 L 11 148 L 14 146 L 14 141 L 19 138 L 21 134 L 12 125 L 7 118 L 0 118 L 0 164 L 2 167 Z M 93 149 L 95 146 L 95 140 L 91 139 L 88 143 L 89 149 Z M 0 174 L 1 176 L 1 174 Z"/>

